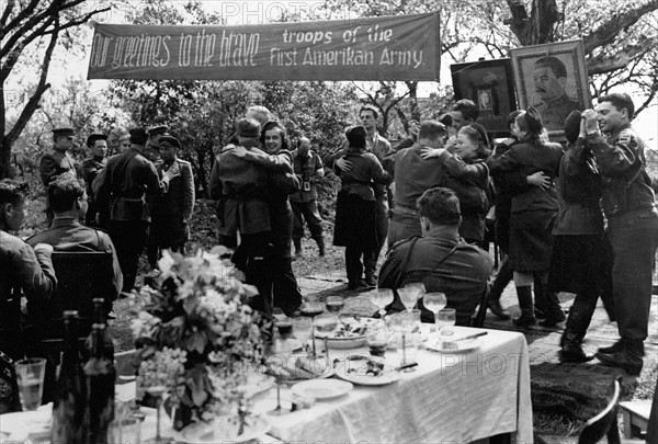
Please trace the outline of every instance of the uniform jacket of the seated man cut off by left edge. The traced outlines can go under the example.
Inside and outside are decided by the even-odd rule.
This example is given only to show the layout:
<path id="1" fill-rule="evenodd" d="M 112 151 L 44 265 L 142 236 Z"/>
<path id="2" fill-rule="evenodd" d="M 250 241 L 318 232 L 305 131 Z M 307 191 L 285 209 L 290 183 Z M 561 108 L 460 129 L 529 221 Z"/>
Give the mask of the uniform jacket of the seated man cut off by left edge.
<path id="1" fill-rule="evenodd" d="M 35 252 L 21 239 L 0 230 L 0 348 L 13 358 L 23 357 L 21 291 L 27 298 L 27 309 L 47 303 L 57 285 L 53 261 L 49 253 Z"/>

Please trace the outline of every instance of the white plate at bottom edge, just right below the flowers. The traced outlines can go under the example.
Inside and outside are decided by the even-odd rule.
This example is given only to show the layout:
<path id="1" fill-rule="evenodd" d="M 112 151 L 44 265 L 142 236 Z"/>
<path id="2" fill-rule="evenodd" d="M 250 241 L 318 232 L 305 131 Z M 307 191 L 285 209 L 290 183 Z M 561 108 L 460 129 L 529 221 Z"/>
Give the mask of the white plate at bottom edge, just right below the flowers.
<path id="1" fill-rule="evenodd" d="M 211 444 L 211 443 L 246 443 L 262 437 L 272 426 L 270 422 L 260 415 L 252 415 L 248 420 L 246 430 L 240 435 L 231 433 L 231 426 L 218 425 L 217 423 L 194 423 L 188 425 L 180 432 L 183 443 L 186 444 Z"/>

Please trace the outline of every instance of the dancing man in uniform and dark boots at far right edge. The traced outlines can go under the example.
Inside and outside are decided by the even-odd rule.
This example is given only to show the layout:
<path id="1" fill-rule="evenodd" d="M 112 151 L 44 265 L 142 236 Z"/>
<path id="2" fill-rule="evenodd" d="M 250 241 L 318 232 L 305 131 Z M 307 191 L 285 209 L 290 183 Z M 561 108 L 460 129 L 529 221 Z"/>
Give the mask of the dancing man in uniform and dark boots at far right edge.
<path id="1" fill-rule="evenodd" d="M 651 305 L 658 213 L 645 169 L 644 143 L 631 126 L 634 112 L 628 94 L 604 95 L 597 111 L 582 113 L 582 125 L 585 143 L 597 158 L 602 180 L 601 204 L 613 253 L 612 297 L 621 337 L 612 346 L 599 349 L 595 356 L 604 365 L 639 375 Z"/>

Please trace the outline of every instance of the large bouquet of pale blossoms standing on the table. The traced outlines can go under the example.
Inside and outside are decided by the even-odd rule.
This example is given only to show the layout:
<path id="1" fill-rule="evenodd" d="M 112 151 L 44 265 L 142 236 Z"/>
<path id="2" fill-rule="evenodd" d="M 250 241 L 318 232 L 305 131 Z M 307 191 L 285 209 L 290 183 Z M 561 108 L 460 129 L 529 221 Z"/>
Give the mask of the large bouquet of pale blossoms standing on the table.
<path id="1" fill-rule="evenodd" d="M 248 305 L 256 288 L 222 259 L 227 253 L 163 251 L 159 276 L 123 304 L 141 360 L 137 397 L 164 385 L 177 430 L 222 417 L 240 434 L 250 415 L 240 387 L 262 360 L 266 326 Z"/>

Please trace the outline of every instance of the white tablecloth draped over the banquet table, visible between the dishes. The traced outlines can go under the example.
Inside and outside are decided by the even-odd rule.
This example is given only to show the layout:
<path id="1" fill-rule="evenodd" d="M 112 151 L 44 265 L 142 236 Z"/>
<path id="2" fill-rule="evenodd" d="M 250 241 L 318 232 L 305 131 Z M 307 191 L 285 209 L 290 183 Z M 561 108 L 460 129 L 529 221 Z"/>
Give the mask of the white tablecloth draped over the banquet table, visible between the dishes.
<path id="1" fill-rule="evenodd" d="M 422 327 L 429 329 L 427 325 Z M 525 338 L 518 332 L 465 327 L 456 327 L 455 337 L 483 331 L 487 335 L 478 338 L 473 350 L 453 353 L 421 348 L 415 371 L 400 373 L 398 380 L 382 386 L 354 385 L 345 395 L 316 400 L 310 408 L 288 414 L 268 415 L 266 411 L 276 405 L 276 390 L 263 390 L 253 398 L 253 412 L 265 417 L 271 426 L 266 435 L 256 436 L 256 441 L 467 443 L 510 433 L 518 442 L 532 443 Z M 317 343 L 321 348 L 321 341 Z M 331 360 L 348 354 L 367 354 L 367 350 L 329 350 Z M 387 351 L 386 358 L 399 364 L 397 352 Z M 120 385 L 116 398 L 128 400 L 134 390 L 134 383 Z M 282 388 L 281 396 L 285 405 L 292 397 L 290 385 Z M 155 436 L 155 412 L 146 410 L 143 442 Z M 1 419 L 0 415 L 0 429 Z M 167 422 L 162 434 L 184 442 Z"/>

